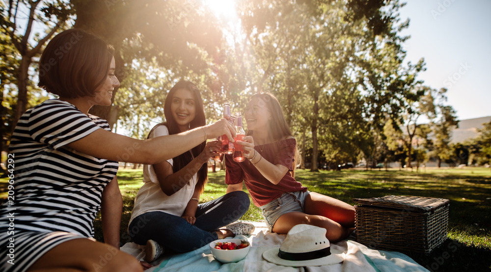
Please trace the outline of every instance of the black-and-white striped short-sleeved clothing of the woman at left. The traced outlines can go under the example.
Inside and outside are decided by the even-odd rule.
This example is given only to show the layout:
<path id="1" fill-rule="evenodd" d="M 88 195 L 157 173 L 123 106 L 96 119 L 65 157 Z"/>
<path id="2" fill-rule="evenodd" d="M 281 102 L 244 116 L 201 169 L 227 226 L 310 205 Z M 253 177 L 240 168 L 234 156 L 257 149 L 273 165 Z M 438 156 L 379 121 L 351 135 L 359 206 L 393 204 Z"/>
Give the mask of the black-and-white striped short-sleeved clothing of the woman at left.
<path id="1" fill-rule="evenodd" d="M 101 208 L 102 191 L 116 175 L 118 163 L 82 154 L 66 145 L 101 128 L 110 131 L 106 120 L 87 116 L 57 99 L 47 100 L 22 115 L 9 147 L 15 162 L 14 204 L 6 202 L 0 210 L 3 258 L 6 249 L 3 244 L 10 237 L 9 213 L 15 214 L 12 237 L 25 238 L 32 233 L 32 237 L 39 236 L 46 242 L 50 232 L 93 236 L 93 220 Z M 16 244 L 16 252 L 27 252 L 30 244 L 40 244 L 39 239 L 24 239 L 27 242 L 23 245 Z M 53 246 L 50 244 L 50 248 Z M 2 268 L 4 265 L 0 264 Z"/>

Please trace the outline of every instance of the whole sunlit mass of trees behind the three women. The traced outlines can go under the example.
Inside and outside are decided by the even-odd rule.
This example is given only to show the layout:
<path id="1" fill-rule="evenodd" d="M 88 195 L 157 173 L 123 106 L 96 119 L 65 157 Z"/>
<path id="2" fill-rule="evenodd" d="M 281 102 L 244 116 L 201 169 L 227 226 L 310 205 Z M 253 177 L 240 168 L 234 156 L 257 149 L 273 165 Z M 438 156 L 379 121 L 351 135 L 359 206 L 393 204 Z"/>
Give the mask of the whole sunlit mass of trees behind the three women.
<path id="1" fill-rule="evenodd" d="M 0 2 L 2 131 L 47 98 L 35 86 L 37 58 L 55 33 L 73 26 L 115 47 L 121 86 L 111 107 L 91 113 L 129 136 L 143 138 L 164 121 L 168 90 L 189 80 L 201 90 L 209 123 L 220 117 L 223 102 L 243 111 L 251 94 L 273 93 L 313 171 L 320 163 L 361 158 L 407 158 L 411 165 L 430 151 L 448 160 L 455 111 L 444 104 L 446 90 L 417 79 L 424 59 L 405 61 L 409 37 L 400 32 L 409 20 L 399 17 L 402 6 L 396 0 L 241 0 L 230 21 L 200 0 Z M 43 30 L 35 32 L 35 24 Z M 10 134 L 2 136 L 4 147 Z M 415 137 L 425 139 L 424 149 Z"/>

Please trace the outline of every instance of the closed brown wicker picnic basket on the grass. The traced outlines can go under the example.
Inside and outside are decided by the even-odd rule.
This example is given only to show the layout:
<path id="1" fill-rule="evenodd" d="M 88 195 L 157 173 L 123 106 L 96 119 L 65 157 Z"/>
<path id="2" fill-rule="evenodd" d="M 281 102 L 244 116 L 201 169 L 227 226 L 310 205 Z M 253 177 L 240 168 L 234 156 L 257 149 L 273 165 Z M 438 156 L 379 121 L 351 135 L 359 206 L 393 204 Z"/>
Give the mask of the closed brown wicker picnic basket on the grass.
<path id="1" fill-rule="evenodd" d="M 447 238 L 449 200 L 387 195 L 354 198 L 357 242 L 371 248 L 430 253 Z"/>

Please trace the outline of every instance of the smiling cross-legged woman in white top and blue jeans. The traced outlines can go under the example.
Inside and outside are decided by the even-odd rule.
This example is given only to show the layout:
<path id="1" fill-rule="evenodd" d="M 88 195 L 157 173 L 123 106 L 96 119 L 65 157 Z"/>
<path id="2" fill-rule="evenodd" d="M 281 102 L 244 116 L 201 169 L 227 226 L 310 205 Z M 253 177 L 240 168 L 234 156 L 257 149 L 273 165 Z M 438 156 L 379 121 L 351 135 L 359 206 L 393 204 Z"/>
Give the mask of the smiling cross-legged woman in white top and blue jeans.
<path id="1" fill-rule="evenodd" d="M 165 99 L 166 123 L 148 136 L 173 135 L 205 125 L 203 101 L 191 82 L 178 82 Z M 147 244 L 147 261 L 165 250 L 188 252 L 210 242 L 237 234 L 249 234 L 253 225 L 235 223 L 249 208 L 244 191 L 227 193 L 199 204 L 207 180 L 207 162 L 220 151 L 218 140 L 201 143 L 162 163 L 145 165 L 143 186 L 135 198 L 128 233 L 133 241 Z M 220 227 L 226 226 L 224 229 Z"/>

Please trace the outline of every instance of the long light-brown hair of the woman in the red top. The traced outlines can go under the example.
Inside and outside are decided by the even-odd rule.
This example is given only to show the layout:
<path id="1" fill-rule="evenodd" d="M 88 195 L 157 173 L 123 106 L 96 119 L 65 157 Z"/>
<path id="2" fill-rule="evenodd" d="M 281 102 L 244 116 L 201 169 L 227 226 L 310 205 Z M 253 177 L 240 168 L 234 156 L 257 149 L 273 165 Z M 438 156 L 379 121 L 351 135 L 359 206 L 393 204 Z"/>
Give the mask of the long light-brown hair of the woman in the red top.
<path id="1" fill-rule="evenodd" d="M 290 130 L 290 126 L 286 122 L 285 116 L 283 115 L 283 110 L 281 109 L 281 105 L 279 104 L 278 100 L 272 93 L 269 92 L 262 92 L 262 93 L 255 93 L 253 94 L 249 101 L 254 99 L 254 98 L 259 98 L 262 101 L 264 101 L 264 106 L 270 111 L 271 113 L 271 120 L 269 122 L 269 131 L 272 134 L 273 140 L 274 141 L 279 141 L 285 136 L 292 136 L 292 131 Z M 254 131 L 247 130 L 246 136 L 250 136 L 254 133 Z M 295 176 L 295 168 L 301 164 L 301 157 L 300 153 L 297 147 L 295 147 L 295 155 L 294 155 L 294 162 L 293 162 L 293 175 Z"/>

